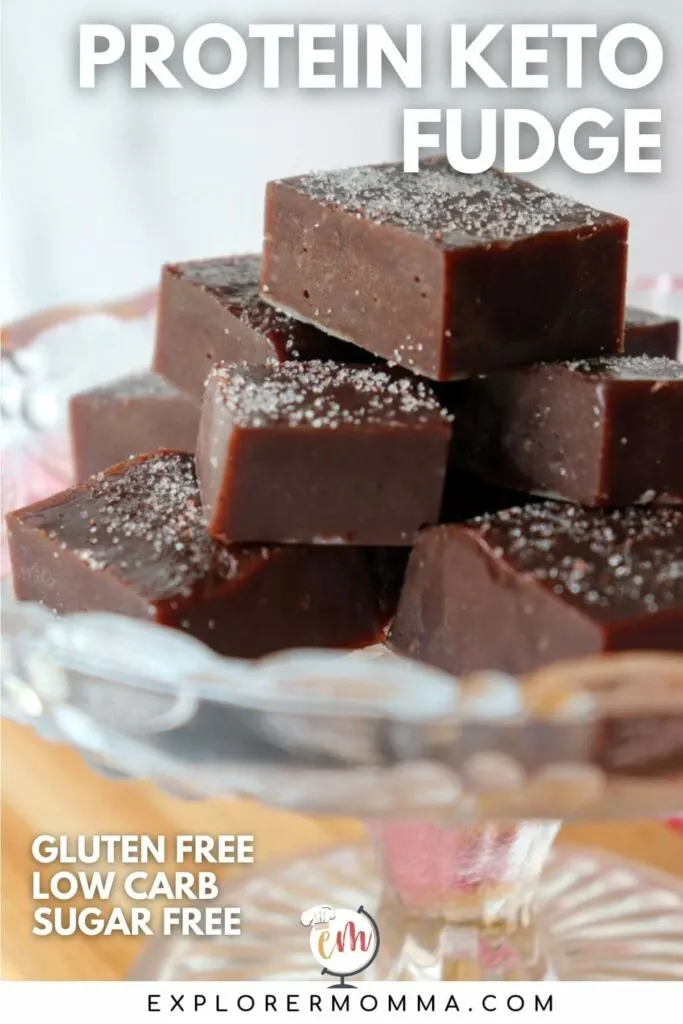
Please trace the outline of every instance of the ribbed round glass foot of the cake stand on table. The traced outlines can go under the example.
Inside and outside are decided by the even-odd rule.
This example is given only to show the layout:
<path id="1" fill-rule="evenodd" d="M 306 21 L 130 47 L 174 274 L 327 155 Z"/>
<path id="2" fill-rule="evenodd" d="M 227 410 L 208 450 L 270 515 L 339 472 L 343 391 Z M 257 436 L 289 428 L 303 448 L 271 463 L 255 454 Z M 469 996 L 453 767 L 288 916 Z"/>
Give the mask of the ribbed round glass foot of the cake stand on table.
<path id="1" fill-rule="evenodd" d="M 489 961 L 479 971 L 481 935 L 465 925 L 422 920 L 415 931 L 409 923 L 403 933 L 400 918 L 380 906 L 381 895 L 376 852 L 365 846 L 325 851 L 263 871 L 233 871 L 224 880 L 221 902 L 242 907 L 242 935 L 154 940 L 130 977 L 323 981 L 309 929 L 301 924 L 303 911 L 321 904 L 353 910 L 362 905 L 377 916 L 380 955 L 367 980 L 529 977 L 514 966 L 506 968 L 504 955 L 497 975 L 488 939 Z M 537 964 L 543 964 L 543 973 L 535 974 L 537 980 L 683 981 L 683 884 L 674 878 L 609 854 L 560 845 L 544 871 L 538 912 L 542 955 Z M 451 970 L 455 962 L 456 974 Z M 470 969 L 463 973 L 466 964 Z"/>

